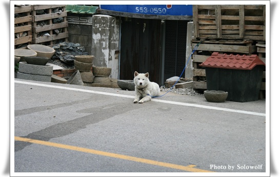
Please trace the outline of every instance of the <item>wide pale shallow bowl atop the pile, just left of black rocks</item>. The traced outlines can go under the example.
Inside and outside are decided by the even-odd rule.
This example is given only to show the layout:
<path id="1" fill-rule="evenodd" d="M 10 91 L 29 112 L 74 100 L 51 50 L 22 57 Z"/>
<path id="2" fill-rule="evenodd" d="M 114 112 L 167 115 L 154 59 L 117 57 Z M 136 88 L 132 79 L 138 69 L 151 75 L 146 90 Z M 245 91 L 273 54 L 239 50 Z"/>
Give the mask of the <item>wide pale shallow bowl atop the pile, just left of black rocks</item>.
<path id="1" fill-rule="evenodd" d="M 51 58 L 55 52 L 53 48 L 41 44 L 30 44 L 27 46 L 27 48 L 37 52 L 37 56 L 41 57 Z"/>

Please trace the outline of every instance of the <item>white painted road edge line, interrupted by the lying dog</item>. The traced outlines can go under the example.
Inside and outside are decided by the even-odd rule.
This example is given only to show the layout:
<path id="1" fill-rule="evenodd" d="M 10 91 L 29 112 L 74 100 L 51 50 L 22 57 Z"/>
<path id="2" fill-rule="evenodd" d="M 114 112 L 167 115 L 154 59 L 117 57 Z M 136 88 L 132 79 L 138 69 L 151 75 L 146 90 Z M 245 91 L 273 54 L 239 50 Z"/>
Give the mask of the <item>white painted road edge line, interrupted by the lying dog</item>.
<path id="1" fill-rule="evenodd" d="M 134 96 L 124 95 L 124 94 L 116 94 L 116 93 L 108 93 L 108 92 L 101 92 L 101 91 L 94 91 L 94 90 L 62 87 L 62 86 L 39 84 L 39 83 L 31 83 L 31 82 L 24 82 L 24 81 L 14 81 L 14 82 L 19 83 L 19 84 L 28 84 L 28 85 L 35 85 L 35 86 L 42 86 L 42 87 L 49 87 L 49 88 L 57 88 L 57 89 L 72 90 L 72 91 L 81 91 L 81 92 L 87 92 L 87 93 L 103 94 L 103 95 L 118 96 L 118 97 L 127 97 L 127 98 L 130 98 L 130 99 L 134 99 Z M 174 105 L 181 105 L 181 106 L 189 106 L 189 107 L 197 107 L 197 108 L 212 109 L 212 110 L 219 110 L 219 111 L 228 111 L 228 112 L 235 112 L 235 113 L 242 113 L 242 114 L 266 116 L 265 113 L 243 111 L 243 110 L 237 110 L 237 109 L 219 108 L 219 107 L 214 107 L 214 106 L 196 105 L 196 104 L 190 104 L 190 103 L 173 102 L 173 101 L 158 100 L 158 99 L 152 99 L 152 101 L 160 102 L 160 103 L 167 103 L 167 104 L 174 104 Z"/>

